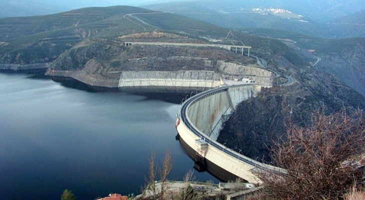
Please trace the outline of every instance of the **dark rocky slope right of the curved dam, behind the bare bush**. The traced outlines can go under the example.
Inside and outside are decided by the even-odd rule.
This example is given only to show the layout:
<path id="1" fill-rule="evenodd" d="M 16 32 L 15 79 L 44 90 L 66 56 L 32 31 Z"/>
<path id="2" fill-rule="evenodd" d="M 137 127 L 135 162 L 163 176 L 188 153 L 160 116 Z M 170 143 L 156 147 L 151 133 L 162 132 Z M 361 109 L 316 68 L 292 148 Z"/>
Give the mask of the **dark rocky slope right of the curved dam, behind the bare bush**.
<path id="1" fill-rule="evenodd" d="M 277 66 L 289 67 L 298 80 L 285 87 L 263 89 L 257 97 L 241 102 L 225 122 L 217 141 L 253 159 L 269 162 L 272 140 L 285 137 L 289 123 L 308 125 L 311 113 L 324 110 L 332 113 L 345 108 L 365 109 L 365 98 L 335 76 L 315 72 L 312 69 L 283 64 L 283 58 L 275 60 Z"/>

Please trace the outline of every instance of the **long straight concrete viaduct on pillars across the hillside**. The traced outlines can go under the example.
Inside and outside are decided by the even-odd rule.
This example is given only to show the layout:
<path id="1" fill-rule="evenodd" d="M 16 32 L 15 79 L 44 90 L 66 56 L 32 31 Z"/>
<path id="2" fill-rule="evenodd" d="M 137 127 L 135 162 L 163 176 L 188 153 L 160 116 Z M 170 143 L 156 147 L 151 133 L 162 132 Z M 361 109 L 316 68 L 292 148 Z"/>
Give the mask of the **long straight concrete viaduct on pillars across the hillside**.
<path id="1" fill-rule="evenodd" d="M 139 44 L 139 45 L 163 45 L 163 46 L 196 46 L 196 47 L 218 47 L 218 48 L 224 48 L 228 50 L 234 50 L 235 53 L 237 51 L 241 51 L 241 54 L 243 55 L 243 50 L 245 48 L 248 49 L 247 56 L 249 56 L 249 49 L 251 46 L 241 46 L 241 45 L 227 45 L 227 44 L 207 44 L 207 43 L 178 43 L 178 42 L 143 42 L 143 41 L 124 41 L 125 46 L 130 46 L 133 44 Z"/>

